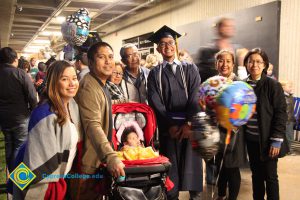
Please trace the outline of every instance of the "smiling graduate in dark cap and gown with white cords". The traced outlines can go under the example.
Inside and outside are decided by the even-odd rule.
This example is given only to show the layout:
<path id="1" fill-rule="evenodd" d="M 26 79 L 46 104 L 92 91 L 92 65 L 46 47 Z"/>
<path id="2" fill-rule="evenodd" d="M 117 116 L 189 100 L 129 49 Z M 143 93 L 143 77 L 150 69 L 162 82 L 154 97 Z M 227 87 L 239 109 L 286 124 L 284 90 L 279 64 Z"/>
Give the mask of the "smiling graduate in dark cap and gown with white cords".
<path id="1" fill-rule="evenodd" d="M 148 101 L 157 117 L 160 153 L 172 163 L 168 175 L 174 188 L 167 193 L 168 199 L 178 199 L 179 191 L 189 191 L 190 199 L 200 199 L 202 159 L 193 152 L 189 141 L 191 118 L 200 112 L 200 75 L 196 65 L 176 58 L 176 39 L 180 36 L 163 26 L 149 38 L 157 44 L 163 62 L 148 76 Z"/>

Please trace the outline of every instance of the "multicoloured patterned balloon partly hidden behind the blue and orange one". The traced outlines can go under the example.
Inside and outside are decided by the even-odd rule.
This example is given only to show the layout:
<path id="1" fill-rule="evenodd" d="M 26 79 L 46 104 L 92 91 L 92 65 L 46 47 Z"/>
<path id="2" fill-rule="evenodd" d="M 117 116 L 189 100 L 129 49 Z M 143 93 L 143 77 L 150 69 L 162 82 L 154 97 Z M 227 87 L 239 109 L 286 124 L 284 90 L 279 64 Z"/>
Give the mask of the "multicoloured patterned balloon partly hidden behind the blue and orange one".
<path id="1" fill-rule="evenodd" d="M 223 76 L 213 76 L 204 81 L 199 87 L 199 104 L 205 104 L 209 109 L 213 109 L 216 105 L 216 96 L 224 88 L 227 83 L 231 83 L 230 79 Z"/>

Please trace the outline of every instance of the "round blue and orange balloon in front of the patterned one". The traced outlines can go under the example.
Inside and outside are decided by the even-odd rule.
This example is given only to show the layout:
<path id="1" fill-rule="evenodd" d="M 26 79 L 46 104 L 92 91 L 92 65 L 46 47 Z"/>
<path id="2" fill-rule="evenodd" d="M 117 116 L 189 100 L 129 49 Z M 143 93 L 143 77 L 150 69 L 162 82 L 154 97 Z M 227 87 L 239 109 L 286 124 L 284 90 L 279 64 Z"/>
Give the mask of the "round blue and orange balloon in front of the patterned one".
<path id="1" fill-rule="evenodd" d="M 228 84 L 216 100 L 218 122 L 227 130 L 246 124 L 256 108 L 254 90 L 243 81 Z"/>

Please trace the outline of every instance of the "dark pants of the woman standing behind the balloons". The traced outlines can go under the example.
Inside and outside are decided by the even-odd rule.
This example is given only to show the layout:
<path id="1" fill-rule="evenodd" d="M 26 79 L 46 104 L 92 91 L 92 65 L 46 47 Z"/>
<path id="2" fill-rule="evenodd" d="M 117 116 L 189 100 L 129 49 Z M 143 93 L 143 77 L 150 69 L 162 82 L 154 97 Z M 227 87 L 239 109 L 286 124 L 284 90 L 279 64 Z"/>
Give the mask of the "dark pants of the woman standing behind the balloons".
<path id="1" fill-rule="evenodd" d="M 227 184 L 229 188 L 228 200 L 236 200 L 240 191 L 241 173 L 238 167 L 222 167 L 218 181 L 218 195 L 226 196 Z"/>

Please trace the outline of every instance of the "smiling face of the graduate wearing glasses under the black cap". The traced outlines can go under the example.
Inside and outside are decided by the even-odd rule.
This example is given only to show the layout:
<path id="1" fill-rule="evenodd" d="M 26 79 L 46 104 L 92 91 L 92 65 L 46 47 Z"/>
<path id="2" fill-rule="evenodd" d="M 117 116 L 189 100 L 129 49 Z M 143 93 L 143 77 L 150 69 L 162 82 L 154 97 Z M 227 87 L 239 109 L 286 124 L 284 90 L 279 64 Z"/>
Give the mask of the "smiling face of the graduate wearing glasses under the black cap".
<path id="1" fill-rule="evenodd" d="M 175 40 L 171 37 L 161 38 L 157 46 L 157 51 L 161 53 L 164 60 L 168 62 L 173 61 L 176 52 Z"/>

